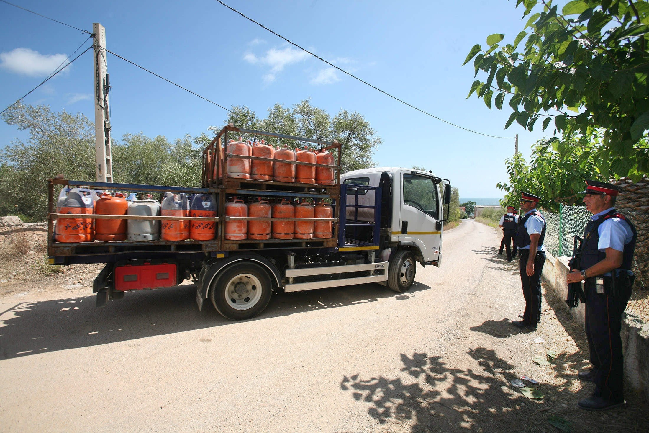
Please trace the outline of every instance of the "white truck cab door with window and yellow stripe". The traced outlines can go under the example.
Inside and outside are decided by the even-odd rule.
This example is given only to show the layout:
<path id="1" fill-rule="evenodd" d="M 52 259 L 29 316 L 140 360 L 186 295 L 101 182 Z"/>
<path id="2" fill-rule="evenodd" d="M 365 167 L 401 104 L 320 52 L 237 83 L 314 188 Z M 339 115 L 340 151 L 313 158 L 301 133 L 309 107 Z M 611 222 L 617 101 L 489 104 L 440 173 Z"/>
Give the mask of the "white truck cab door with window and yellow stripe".
<path id="1" fill-rule="evenodd" d="M 417 245 L 424 262 L 438 260 L 441 230 L 437 229 L 437 221 L 443 216 L 435 180 L 415 172 L 402 172 L 401 202 L 399 242 Z"/>

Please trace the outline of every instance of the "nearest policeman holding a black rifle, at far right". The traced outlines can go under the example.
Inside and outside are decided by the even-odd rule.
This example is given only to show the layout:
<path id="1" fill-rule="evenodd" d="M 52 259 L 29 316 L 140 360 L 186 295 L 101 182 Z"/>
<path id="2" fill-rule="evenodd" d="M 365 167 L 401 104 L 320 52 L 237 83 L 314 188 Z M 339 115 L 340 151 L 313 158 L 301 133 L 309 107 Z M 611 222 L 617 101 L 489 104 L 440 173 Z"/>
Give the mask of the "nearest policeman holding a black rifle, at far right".
<path id="1" fill-rule="evenodd" d="M 578 404 L 586 410 L 604 410 L 624 404 L 620 328 L 635 278 L 631 262 L 637 234 L 631 221 L 615 210 L 617 186 L 596 180 L 586 184 L 583 203 L 593 217 L 583 234 L 579 269 L 572 269 L 567 280 L 584 282 L 593 369 L 581 371 L 579 377 L 595 383 L 593 395 Z"/>

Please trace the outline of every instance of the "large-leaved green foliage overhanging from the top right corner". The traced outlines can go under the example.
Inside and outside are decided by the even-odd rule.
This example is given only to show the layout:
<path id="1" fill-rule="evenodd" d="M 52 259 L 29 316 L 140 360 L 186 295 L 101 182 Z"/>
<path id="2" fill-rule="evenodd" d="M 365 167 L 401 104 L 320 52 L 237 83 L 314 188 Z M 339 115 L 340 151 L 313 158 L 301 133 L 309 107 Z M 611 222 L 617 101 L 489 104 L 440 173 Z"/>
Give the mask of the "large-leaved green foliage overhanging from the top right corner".
<path id="1" fill-rule="evenodd" d="M 467 98 L 476 93 L 498 110 L 508 101 L 506 128 L 554 123 L 562 138 L 550 143 L 553 169 L 588 161 L 600 177 L 640 179 L 649 173 L 649 3 L 574 0 L 560 11 L 554 3 L 517 0 L 528 21 L 513 42 L 492 34 L 487 49 L 472 47 L 465 63 L 473 59 L 486 78 Z"/>

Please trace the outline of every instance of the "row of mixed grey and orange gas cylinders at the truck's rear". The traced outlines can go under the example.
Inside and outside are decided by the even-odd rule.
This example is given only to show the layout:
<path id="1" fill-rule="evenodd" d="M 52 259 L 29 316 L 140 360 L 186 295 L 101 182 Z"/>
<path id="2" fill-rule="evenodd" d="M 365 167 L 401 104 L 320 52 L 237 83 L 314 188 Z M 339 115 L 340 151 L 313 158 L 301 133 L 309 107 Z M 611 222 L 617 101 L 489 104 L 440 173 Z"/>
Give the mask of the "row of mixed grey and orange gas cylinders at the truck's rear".
<path id="1" fill-rule="evenodd" d="M 56 221 L 57 242 L 214 240 L 216 236 L 214 221 L 83 217 L 88 214 L 215 217 L 217 202 L 212 194 L 175 195 L 167 192 L 162 203 L 158 203 L 151 198 L 138 200 L 134 193 L 124 199 L 119 192 L 108 194 L 85 188 L 64 188 L 58 196 L 56 212 L 71 215 Z"/>

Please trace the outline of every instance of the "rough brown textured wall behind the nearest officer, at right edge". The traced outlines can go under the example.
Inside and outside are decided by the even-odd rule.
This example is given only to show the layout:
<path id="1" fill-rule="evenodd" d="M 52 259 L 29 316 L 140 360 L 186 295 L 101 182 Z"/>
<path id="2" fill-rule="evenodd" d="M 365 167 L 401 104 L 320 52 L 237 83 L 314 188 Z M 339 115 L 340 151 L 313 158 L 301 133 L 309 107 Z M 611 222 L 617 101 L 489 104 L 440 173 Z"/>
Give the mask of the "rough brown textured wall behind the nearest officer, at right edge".
<path id="1" fill-rule="evenodd" d="M 646 286 L 649 283 L 649 179 L 645 177 L 640 182 L 633 183 L 628 177 L 623 177 L 613 183 L 622 188 L 615 208 L 631 219 L 638 232 L 633 271 L 640 278 L 636 278 L 634 288 L 639 289 L 640 280 L 643 280 L 645 288 L 649 289 Z"/>

